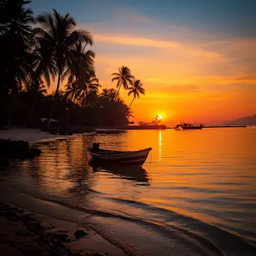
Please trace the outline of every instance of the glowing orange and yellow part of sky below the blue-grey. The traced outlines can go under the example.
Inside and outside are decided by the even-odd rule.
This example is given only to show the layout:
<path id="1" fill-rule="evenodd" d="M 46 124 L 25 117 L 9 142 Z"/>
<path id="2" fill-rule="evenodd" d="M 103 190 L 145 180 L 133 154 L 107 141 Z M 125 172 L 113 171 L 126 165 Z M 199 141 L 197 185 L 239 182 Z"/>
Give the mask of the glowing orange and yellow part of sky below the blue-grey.
<path id="1" fill-rule="evenodd" d="M 109 40 L 104 34 L 94 37 L 97 42 Z M 135 42 L 152 51 L 159 47 L 156 55 L 96 58 L 101 85 L 115 86 L 110 82 L 111 73 L 122 64 L 143 82 L 146 96 L 132 105 L 135 121 L 149 121 L 160 114 L 165 124 L 180 120 L 214 124 L 256 113 L 255 63 L 252 67 L 244 63 L 245 58 L 256 59 L 256 40 L 216 42 L 207 47 L 118 34 L 112 36 L 112 42 Z M 132 100 L 124 90 L 121 96 L 127 103 Z"/>

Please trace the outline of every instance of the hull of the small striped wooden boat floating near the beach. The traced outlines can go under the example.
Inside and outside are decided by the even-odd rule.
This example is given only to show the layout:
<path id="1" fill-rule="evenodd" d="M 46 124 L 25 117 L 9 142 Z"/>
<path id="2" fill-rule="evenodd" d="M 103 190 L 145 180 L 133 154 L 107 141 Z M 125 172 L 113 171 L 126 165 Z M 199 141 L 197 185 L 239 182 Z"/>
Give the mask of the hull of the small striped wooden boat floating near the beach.
<path id="1" fill-rule="evenodd" d="M 143 165 L 150 150 L 152 150 L 151 147 L 137 151 L 114 151 L 104 149 L 95 151 L 92 147 L 88 147 L 88 152 L 94 160 L 118 165 Z"/>

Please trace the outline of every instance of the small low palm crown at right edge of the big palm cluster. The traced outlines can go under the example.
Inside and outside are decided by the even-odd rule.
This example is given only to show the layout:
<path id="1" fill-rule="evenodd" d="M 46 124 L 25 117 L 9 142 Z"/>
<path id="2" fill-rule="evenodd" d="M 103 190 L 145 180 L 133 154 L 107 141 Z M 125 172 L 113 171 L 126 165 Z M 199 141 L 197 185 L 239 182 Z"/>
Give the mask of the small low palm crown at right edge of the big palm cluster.
<path id="1" fill-rule="evenodd" d="M 97 93 L 99 91 L 99 87 L 101 85 L 99 84 L 99 80 L 96 77 L 88 76 L 86 75 L 84 77 L 84 80 L 81 82 L 80 86 L 80 97 L 82 99 L 81 106 L 85 106 L 85 99 L 88 96 L 88 94 L 92 91 Z"/>

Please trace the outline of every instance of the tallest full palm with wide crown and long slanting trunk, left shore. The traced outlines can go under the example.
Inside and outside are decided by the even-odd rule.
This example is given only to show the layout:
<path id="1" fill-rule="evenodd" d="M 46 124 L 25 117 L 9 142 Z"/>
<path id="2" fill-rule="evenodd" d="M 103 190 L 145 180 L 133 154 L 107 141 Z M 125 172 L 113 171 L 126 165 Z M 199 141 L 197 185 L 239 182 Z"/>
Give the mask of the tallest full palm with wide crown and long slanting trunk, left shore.
<path id="1" fill-rule="evenodd" d="M 53 9 L 53 14 L 43 13 L 37 16 L 37 22 L 42 26 L 35 29 L 35 35 L 38 41 L 48 41 L 52 49 L 52 58 L 58 70 L 58 82 L 53 100 L 52 109 L 49 113 L 49 120 L 55 109 L 55 103 L 58 96 L 58 90 L 61 81 L 70 72 L 70 59 L 73 58 L 73 48 L 78 43 L 93 44 L 93 38 L 89 31 L 74 30 L 76 22 L 70 13 L 62 16 Z M 49 122 L 47 127 L 49 126 Z"/>

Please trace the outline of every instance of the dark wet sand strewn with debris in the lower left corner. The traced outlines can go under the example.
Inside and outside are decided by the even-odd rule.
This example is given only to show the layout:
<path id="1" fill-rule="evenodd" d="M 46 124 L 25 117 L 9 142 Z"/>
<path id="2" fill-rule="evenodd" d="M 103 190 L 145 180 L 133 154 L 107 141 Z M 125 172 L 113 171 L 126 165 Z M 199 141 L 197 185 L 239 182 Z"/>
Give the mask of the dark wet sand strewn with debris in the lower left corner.
<path id="1" fill-rule="evenodd" d="M 0 201 L 0 255 L 124 255 L 89 228 Z"/>

